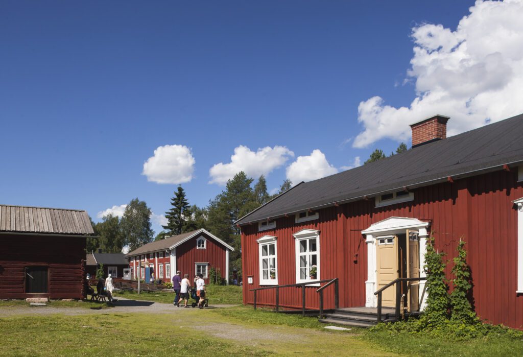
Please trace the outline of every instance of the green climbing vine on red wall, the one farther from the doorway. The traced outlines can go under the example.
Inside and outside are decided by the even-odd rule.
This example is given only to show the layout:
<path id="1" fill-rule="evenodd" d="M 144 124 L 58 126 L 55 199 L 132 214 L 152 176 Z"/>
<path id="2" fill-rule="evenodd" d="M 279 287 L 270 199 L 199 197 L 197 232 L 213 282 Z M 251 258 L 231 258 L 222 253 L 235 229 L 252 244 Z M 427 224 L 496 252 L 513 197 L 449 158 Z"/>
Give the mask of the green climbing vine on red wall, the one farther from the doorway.
<path id="1" fill-rule="evenodd" d="M 456 324 L 472 325 L 479 321 L 468 299 L 468 294 L 472 289 L 472 279 L 464 245 L 465 242 L 460 239 L 458 256 L 453 259 L 452 274 L 454 279 L 452 280 L 453 290 L 450 294 L 450 305 L 452 306 L 450 320 Z"/>

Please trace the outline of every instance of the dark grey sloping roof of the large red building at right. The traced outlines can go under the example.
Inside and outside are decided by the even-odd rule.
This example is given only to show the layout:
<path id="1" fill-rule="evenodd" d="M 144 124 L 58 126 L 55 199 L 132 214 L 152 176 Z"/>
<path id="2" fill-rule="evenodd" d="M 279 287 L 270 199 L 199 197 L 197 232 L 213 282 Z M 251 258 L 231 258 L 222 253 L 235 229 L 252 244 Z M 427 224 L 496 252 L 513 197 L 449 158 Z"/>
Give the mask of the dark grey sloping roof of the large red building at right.
<path id="1" fill-rule="evenodd" d="M 398 155 L 300 183 L 240 218 L 246 224 L 307 209 L 332 206 L 365 196 L 434 184 L 523 162 L 523 114 L 479 129 L 417 146 Z"/>

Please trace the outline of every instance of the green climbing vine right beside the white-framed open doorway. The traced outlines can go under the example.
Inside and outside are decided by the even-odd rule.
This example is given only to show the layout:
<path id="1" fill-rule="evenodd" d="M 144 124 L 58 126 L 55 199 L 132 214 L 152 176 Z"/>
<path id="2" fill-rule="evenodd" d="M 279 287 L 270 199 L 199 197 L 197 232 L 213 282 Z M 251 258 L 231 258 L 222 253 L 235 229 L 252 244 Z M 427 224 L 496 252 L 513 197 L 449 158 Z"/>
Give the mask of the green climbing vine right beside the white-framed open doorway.
<path id="1" fill-rule="evenodd" d="M 423 267 L 427 274 L 427 306 L 421 319 L 431 327 L 446 324 L 449 317 L 449 289 L 445 280 L 444 256 L 444 253 L 435 250 L 434 236 L 430 236 Z"/>

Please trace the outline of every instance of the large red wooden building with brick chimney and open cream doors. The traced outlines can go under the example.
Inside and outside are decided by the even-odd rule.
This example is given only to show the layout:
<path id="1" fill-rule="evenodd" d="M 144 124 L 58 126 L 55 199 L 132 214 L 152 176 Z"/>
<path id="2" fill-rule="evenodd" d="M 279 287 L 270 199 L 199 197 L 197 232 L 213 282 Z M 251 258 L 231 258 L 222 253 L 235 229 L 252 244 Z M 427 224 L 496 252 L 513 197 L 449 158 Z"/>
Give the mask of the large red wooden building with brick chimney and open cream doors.
<path id="1" fill-rule="evenodd" d="M 447 138 L 448 119 L 411 125 L 406 152 L 302 182 L 238 220 L 244 303 L 258 287 L 338 278 L 340 307 L 374 308 L 391 281 L 425 276 L 432 234 L 449 260 L 467 243 L 477 314 L 521 328 L 523 114 Z M 405 307 L 423 309 L 424 285 L 401 287 Z M 305 289 L 307 308 L 319 307 L 318 286 Z M 384 307 L 395 306 L 395 286 L 383 291 Z M 279 290 L 280 307 L 302 307 L 301 289 Z M 333 308 L 333 289 L 325 294 Z M 257 292 L 258 304 L 275 299 L 274 289 Z"/>

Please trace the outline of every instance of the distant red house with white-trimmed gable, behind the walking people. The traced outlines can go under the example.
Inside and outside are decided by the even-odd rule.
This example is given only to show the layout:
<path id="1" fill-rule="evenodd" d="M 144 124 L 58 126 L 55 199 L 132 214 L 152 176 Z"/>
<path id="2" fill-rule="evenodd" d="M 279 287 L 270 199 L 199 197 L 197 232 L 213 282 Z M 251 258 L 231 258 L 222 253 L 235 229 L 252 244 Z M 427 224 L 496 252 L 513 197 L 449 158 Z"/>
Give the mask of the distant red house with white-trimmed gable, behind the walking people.
<path id="1" fill-rule="evenodd" d="M 183 233 L 153 241 L 135 249 L 127 255 L 129 267 L 134 279 L 145 275 L 137 269 L 141 263 L 152 268 L 155 280 L 170 281 L 177 270 L 181 274 L 194 277 L 202 273 L 206 283 L 209 282 L 209 269 L 220 270 L 222 278 L 228 281 L 229 252 L 234 248 L 205 229 Z"/>

